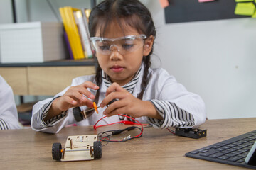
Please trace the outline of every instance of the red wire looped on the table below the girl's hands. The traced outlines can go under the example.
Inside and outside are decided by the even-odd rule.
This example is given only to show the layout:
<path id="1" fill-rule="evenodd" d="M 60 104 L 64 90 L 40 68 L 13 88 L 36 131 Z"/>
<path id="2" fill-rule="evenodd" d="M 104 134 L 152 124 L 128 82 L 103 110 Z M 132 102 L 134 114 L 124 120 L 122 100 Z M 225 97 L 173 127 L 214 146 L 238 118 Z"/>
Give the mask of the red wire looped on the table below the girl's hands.
<path id="1" fill-rule="evenodd" d="M 131 121 L 119 121 L 119 122 L 116 122 L 116 123 L 124 123 L 124 124 L 128 124 L 128 125 L 141 125 L 142 126 L 142 132 L 143 132 L 143 125 L 147 125 L 147 124 L 142 124 L 142 123 L 140 123 L 138 120 L 136 120 L 136 119 L 134 119 L 134 118 L 132 118 L 132 117 L 129 117 L 128 115 L 122 115 L 122 114 L 118 114 L 118 115 L 121 115 L 121 116 L 124 116 L 124 117 L 126 117 L 126 118 L 130 118 L 130 119 L 132 119 L 132 120 L 134 120 L 134 121 L 136 121 L 137 123 L 133 123 L 133 122 L 131 122 Z M 100 118 L 99 120 L 97 120 L 97 122 L 95 123 L 95 125 L 93 125 L 93 128 L 96 130 L 96 128 L 99 128 L 99 127 L 102 127 L 102 126 L 106 126 L 106 125 L 98 125 L 98 126 L 96 126 L 97 125 L 97 123 L 98 122 L 100 122 L 100 120 L 102 120 L 102 119 L 104 119 L 104 118 L 106 118 L 107 116 L 104 116 L 104 117 L 102 117 L 102 118 Z M 110 123 L 110 124 L 107 124 L 107 125 L 113 125 L 113 124 L 116 124 L 116 123 Z M 140 132 L 139 133 L 139 135 L 137 135 L 137 136 L 134 136 L 134 137 L 132 137 L 132 138 L 135 138 L 135 137 L 139 137 L 140 135 L 142 135 L 142 132 Z M 104 139 L 105 137 L 103 137 L 102 139 Z M 101 140 L 102 140 L 101 139 Z M 124 140 L 124 139 L 123 139 Z M 123 141 L 123 140 L 120 140 L 120 141 Z M 112 141 L 112 142 L 118 142 L 117 140 L 109 140 L 109 141 Z"/>

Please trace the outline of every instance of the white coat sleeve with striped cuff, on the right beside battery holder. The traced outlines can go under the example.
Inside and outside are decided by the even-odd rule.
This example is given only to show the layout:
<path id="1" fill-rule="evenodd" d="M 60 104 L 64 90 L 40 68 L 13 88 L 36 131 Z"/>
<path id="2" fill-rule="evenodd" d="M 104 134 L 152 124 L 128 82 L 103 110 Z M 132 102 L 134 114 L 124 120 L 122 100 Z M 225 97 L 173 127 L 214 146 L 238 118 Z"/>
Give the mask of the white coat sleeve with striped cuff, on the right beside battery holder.
<path id="1" fill-rule="evenodd" d="M 147 118 L 156 128 L 197 128 L 206 120 L 205 104 L 200 96 L 188 92 L 166 71 L 159 72 L 154 87 L 157 96 L 151 99 L 162 120 Z"/>

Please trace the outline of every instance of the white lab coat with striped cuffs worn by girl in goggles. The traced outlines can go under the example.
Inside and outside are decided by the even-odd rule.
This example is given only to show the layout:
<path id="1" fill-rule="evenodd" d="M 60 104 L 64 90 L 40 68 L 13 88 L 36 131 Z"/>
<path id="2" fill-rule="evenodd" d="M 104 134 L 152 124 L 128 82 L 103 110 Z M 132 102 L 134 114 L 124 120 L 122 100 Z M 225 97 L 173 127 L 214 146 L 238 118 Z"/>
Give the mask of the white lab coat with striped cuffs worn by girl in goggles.
<path id="1" fill-rule="evenodd" d="M 133 95 L 138 96 L 141 91 L 141 82 L 144 66 L 142 64 L 142 72 L 139 73 L 139 79 L 134 87 Z M 188 92 L 185 87 L 178 84 L 173 76 L 170 76 L 164 69 L 149 69 L 149 84 L 146 86 L 144 96 L 142 100 L 151 101 L 154 103 L 159 114 L 163 117 L 163 120 L 156 120 L 153 118 L 136 118 L 141 123 L 150 123 L 156 128 L 169 128 L 169 127 L 183 127 L 183 128 L 196 128 L 206 120 L 205 104 L 200 96 Z M 82 76 L 73 79 L 71 86 L 82 84 L 85 81 L 92 81 L 95 83 L 95 76 Z M 55 97 L 62 96 L 65 91 L 61 91 Z M 89 89 L 92 94 L 96 94 L 96 91 Z M 102 81 L 100 86 L 100 97 L 98 103 L 100 104 L 102 99 L 105 98 L 105 92 L 107 87 Z M 54 98 L 55 98 L 54 97 Z M 99 114 L 93 113 L 89 118 L 86 118 L 80 122 L 76 122 L 73 115 L 73 108 L 68 109 L 67 112 L 62 113 L 58 118 L 55 118 L 52 123 L 46 124 L 43 121 L 43 115 L 46 115 L 50 108 L 51 102 L 54 98 L 48 98 L 44 101 L 39 101 L 33 106 L 33 115 L 31 118 L 31 127 L 33 130 L 55 133 L 59 132 L 65 125 L 76 123 L 77 125 L 94 125 L 97 120 L 104 115 L 102 112 L 105 108 L 99 108 Z M 85 106 L 80 107 L 85 109 Z M 118 115 L 114 115 L 110 118 L 105 118 L 97 125 L 118 122 Z"/>

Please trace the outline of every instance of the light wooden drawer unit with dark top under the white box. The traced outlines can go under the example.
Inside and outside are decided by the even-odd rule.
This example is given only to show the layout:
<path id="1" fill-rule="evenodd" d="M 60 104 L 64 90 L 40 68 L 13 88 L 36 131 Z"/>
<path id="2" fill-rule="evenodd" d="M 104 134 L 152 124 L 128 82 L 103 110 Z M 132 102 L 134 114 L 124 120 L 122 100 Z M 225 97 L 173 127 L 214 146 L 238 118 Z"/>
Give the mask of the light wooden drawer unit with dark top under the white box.
<path id="1" fill-rule="evenodd" d="M 92 60 L 63 60 L 29 64 L 0 64 L 0 74 L 15 95 L 54 96 L 75 77 L 95 74 Z"/>

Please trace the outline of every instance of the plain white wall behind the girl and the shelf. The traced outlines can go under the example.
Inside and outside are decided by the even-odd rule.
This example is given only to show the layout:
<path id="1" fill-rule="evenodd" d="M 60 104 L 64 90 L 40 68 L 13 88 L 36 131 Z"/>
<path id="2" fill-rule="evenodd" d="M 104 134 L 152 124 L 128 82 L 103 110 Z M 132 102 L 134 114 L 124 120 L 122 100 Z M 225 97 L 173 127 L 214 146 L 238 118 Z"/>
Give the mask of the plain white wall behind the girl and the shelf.
<path id="1" fill-rule="evenodd" d="M 161 67 L 188 91 L 203 98 L 208 118 L 255 117 L 256 19 L 166 24 L 159 1 L 141 1 L 151 11 L 156 25 L 154 61 L 158 62 L 159 57 Z M 90 7 L 89 0 L 50 2 L 57 12 L 60 6 Z M 58 21 L 45 0 L 16 3 L 19 22 Z"/>

